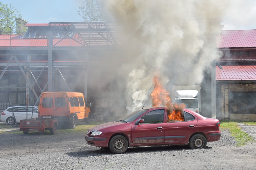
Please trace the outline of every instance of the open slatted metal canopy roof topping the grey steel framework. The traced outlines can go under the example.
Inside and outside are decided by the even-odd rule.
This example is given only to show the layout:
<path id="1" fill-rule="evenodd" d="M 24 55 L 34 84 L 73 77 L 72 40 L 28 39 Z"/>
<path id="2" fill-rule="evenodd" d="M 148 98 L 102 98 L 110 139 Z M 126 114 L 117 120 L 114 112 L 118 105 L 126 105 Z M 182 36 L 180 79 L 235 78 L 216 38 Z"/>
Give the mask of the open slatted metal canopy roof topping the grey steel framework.
<path id="1" fill-rule="evenodd" d="M 53 39 L 56 40 L 54 46 L 61 41 L 65 41 L 64 44 L 68 45 L 67 39 L 79 43 L 69 44 L 72 46 L 124 45 L 126 41 L 120 28 L 113 22 L 50 22 L 48 26 L 42 24 L 26 24 L 26 26 L 28 31 L 23 38 L 48 38 L 48 31 L 52 31 Z M 63 42 L 61 43 L 63 45 Z"/>

